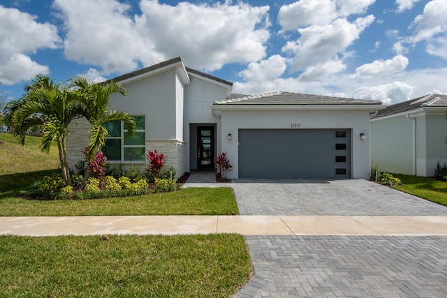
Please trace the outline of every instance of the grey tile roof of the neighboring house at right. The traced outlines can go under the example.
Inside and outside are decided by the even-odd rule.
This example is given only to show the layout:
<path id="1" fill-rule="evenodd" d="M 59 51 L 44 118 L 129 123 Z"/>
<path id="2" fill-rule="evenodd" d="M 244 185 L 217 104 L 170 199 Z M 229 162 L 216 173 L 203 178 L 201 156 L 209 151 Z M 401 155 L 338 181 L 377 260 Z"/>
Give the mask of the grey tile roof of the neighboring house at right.
<path id="1" fill-rule="evenodd" d="M 406 100 L 402 103 L 396 103 L 394 105 L 388 105 L 388 107 L 380 110 L 371 119 L 388 116 L 391 114 L 398 114 L 402 112 L 409 112 L 412 110 L 418 110 L 423 107 L 446 107 L 447 108 L 447 95 L 445 94 L 427 94 L 418 98 Z"/>

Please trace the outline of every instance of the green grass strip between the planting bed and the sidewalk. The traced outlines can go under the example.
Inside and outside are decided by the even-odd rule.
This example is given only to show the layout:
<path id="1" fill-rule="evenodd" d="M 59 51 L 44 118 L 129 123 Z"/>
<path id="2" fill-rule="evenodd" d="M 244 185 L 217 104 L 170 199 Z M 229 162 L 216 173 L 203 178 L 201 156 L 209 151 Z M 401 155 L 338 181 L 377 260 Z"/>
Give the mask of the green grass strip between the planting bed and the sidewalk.
<path id="1" fill-rule="evenodd" d="M 233 188 L 184 188 L 126 198 L 41 201 L 1 198 L 0 216 L 233 215 L 239 214 Z"/>

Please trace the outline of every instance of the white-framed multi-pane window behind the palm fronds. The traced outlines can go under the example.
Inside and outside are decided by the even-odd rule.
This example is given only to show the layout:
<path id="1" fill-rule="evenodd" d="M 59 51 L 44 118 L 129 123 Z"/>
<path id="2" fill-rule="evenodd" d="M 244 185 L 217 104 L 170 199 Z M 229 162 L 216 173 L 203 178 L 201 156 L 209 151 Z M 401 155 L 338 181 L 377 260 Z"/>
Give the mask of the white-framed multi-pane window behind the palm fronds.
<path id="1" fill-rule="evenodd" d="M 110 137 L 105 140 L 103 152 L 108 161 L 145 160 L 145 117 L 134 116 L 137 128 L 130 139 L 125 137 L 127 126 L 122 121 L 109 121 L 104 124 Z"/>

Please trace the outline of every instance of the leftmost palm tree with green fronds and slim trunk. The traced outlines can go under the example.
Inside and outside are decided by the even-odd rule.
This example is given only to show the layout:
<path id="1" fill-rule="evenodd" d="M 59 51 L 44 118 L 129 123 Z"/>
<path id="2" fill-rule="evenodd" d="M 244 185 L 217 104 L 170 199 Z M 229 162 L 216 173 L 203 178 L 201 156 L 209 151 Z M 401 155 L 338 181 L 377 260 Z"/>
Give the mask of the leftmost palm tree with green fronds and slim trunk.
<path id="1" fill-rule="evenodd" d="M 66 185 L 71 185 L 71 174 L 66 158 L 68 124 L 82 117 L 81 105 L 68 96 L 66 87 L 46 75 L 36 75 L 31 84 L 24 87 L 26 94 L 10 101 L 4 108 L 3 120 L 20 144 L 30 128 L 43 127 L 41 150 L 50 151 L 52 142 L 57 142 L 59 161 Z"/>

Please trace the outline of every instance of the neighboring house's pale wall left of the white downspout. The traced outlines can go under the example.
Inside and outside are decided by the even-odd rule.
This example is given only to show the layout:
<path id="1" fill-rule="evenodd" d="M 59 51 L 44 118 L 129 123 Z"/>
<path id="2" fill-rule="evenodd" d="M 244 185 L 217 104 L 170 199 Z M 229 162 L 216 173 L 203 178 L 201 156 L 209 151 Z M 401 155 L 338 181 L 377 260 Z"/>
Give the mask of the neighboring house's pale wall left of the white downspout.
<path id="1" fill-rule="evenodd" d="M 413 119 L 371 122 L 371 164 L 381 171 L 413 174 Z"/>

